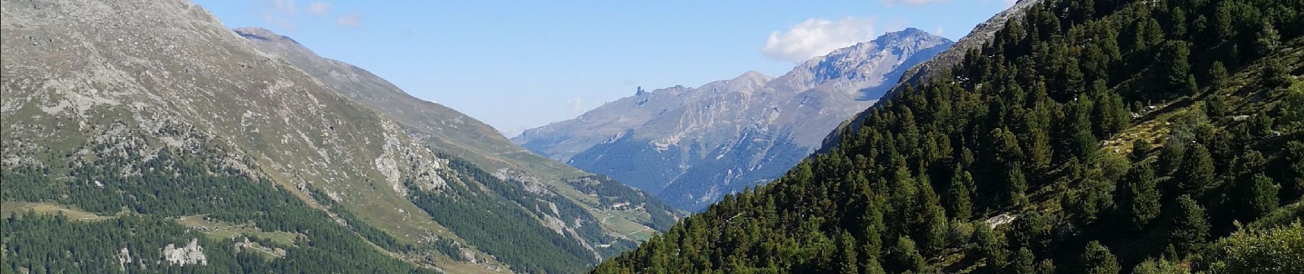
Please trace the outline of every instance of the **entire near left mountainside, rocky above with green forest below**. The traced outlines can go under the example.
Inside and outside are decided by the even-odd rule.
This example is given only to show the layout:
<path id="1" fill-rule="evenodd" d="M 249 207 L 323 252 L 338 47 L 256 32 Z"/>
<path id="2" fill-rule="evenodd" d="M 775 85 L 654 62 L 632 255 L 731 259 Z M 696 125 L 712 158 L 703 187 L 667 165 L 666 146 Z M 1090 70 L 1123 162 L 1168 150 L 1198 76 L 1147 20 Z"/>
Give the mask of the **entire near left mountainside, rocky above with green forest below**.
<path id="1" fill-rule="evenodd" d="M 635 243 L 597 209 L 411 140 L 193 4 L 3 14 L 0 200 L 112 219 L 7 219 L 7 273 L 576 273 Z"/>

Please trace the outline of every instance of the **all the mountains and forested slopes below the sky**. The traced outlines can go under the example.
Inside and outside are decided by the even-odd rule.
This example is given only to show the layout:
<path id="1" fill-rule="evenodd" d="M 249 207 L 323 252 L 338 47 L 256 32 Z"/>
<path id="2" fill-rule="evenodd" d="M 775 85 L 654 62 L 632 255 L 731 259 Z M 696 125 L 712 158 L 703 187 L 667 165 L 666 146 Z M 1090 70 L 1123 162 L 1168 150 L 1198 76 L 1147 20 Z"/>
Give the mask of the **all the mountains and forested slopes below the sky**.
<path id="1" fill-rule="evenodd" d="M 0 121 L 4 274 L 1304 273 L 1299 0 L 1022 0 L 510 140 L 185 0 L 5 0 Z"/>

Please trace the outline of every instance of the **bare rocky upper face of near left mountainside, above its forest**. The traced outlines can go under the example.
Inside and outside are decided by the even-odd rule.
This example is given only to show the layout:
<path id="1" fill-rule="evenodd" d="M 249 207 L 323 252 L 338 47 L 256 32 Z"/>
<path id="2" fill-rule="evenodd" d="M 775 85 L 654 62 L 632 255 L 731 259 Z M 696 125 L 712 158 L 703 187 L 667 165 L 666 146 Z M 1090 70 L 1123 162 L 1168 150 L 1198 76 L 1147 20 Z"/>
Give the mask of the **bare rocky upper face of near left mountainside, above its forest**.
<path id="1" fill-rule="evenodd" d="M 42 179 L 21 188 L 7 177 L 4 190 L 51 191 L 5 195 L 5 200 L 86 208 L 89 200 L 110 199 L 96 205 L 96 213 L 151 218 L 244 210 L 214 205 L 153 214 L 132 206 L 146 201 L 179 206 L 168 203 L 180 201 L 156 200 L 172 193 L 155 190 L 162 182 L 145 179 L 146 164 L 172 151 L 207 162 L 189 166 L 200 174 L 192 178 L 196 183 L 214 179 L 203 174 L 232 169 L 254 182 L 275 183 L 266 190 L 304 203 L 293 206 L 326 209 L 316 203 L 326 196 L 338 201 L 327 209 L 330 218 L 317 222 L 327 227 L 317 230 L 339 222 L 409 243 L 422 235 L 451 236 L 403 196 L 403 181 L 447 183 L 436 171 L 441 160 L 408 142 L 393 122 L 258 52 L 198 6 L 183 1 L 5 1 L 4 6 L 4 170 L 38 170 Z M 120 178 L 110 177 L 115 174 Z M 130 183 L 106 184 L 111 178 Z M 103 188 L 74 187 L 78 183 Z M 78 199 L 82 195 L 89 197 Z M 222 200 L 220 193 L 193 195 Z"/>

